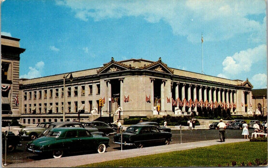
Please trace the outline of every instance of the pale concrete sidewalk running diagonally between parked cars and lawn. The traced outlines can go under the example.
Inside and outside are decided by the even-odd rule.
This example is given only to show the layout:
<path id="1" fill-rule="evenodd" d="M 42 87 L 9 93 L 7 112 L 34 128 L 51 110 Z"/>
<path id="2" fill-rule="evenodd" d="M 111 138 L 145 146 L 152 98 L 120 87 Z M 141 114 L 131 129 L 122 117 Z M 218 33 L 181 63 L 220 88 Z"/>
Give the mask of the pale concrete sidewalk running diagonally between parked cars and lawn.
<path id="1" fill-rule="evenodd" d="M 193 149 L 197 147 L 204 147 L 216 144 L 233 143 L 248 141 L 248 139 L 225 139 L 225 142 L 219 142 L 219 139 L 187 142 L 187 143 L 174 143 L 169 145 L 159 145 L 152 147 L 134 148 L 128 150 L 109 151 L 105 153 L 83 154 L 75 156 L 67 156 L 61 158 L 50 158 L 43 160 L 35 160 L 25 163 L 8 164 L 4 167 L 72 167 L 83 164 L 90 164 L 95 162 L 103 162 L 115 159 L 136 157 L 141 155 L 149 155 L 156 153 L 164 153 L 169 151 Z"/>

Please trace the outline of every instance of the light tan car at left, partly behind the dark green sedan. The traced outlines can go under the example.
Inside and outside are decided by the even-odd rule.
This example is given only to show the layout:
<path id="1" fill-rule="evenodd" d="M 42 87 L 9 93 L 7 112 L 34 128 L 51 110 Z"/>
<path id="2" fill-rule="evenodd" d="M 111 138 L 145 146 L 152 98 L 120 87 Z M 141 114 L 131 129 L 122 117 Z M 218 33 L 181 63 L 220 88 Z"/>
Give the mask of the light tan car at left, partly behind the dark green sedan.
<path id="1" fill-rule="evenodd" d="M 21 137 L 21 139 L 30 138 L 33 140 L 37 138 L 40 133 L 46 130 L 50 123 L 51 122 L 40 122 L 35 127 L 29 126 L 21 128 L 18 135 Z"/>

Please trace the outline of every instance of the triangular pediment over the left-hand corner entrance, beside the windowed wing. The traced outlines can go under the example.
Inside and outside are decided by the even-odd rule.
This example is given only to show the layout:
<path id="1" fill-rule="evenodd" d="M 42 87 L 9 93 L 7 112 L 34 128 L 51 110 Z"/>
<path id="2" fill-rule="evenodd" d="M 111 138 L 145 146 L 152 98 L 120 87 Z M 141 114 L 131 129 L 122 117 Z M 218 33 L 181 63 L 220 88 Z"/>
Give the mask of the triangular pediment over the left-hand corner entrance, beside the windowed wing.
<path id="1" fill-rule="evenodd" d="M 112 58 L 112 60 L 109 63 L 105 64 L 102 68 L 97 70 L 97 73 L 100 74 L 100 73 L 116 72 L 121 70 L 127 70 L 129 68 L 131 68 L 129 67 L 129 65 L 114 61 L 114 59 Z"/>

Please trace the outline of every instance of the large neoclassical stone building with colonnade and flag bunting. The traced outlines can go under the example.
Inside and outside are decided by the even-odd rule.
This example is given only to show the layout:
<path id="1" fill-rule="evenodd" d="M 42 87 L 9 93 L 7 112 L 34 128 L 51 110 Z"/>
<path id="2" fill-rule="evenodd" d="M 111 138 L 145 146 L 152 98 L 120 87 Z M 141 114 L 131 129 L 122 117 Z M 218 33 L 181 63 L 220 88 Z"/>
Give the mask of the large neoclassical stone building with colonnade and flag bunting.
<path id="1" fill-rule="evenodd" d="M 102 67 L 21 79 L 21 122 L 191 115 L 198 106 L 218 105 L 229 108 L 232 115 L 248 115 L 252 87 L 248 79 L 230 80 L 171 68 L 161 58 L 112 58 Z M 99 106 L 100 100 L 103 106 Z"/>

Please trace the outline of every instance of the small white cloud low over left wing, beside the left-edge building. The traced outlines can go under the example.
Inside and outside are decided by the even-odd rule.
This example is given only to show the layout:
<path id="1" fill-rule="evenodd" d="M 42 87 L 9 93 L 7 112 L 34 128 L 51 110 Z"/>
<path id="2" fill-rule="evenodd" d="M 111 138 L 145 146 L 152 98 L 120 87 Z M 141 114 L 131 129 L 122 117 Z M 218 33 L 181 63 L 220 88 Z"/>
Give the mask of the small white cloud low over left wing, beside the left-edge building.
<path id="1" fill-rule="evenodd" d="M 41 73 L 44 69 L 45 63 L 43 61 L 39 61 L 35 64 L 35 67 L 30 66 L 29 72 L 27 74 L 20 75 L 20 78 L 36 78 L 41 77 Z"/>

